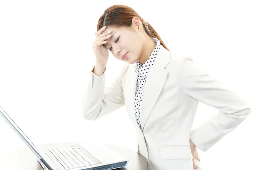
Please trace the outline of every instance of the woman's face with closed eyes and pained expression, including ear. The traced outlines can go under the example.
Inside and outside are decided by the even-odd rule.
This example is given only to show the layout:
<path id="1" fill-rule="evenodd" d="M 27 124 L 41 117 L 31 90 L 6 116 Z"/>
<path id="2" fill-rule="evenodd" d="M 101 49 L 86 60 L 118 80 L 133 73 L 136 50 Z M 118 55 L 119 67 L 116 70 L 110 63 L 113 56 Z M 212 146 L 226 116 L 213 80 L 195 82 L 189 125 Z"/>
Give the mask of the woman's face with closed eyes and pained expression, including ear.
<path id="1" fill-rule="evenodd" d="M 110 30 L 112 38 L 106 39 L 108 42 L 105 43 L 104 46 L 109 51 L 111 50 L 112 55 L 116 57 L 116 59 L 130 64 L 137 62 L 143 48 L 143 36 L 146 34 L 143 34 L 143 26 L 140 20 L 134 19 L 130 28 L 107 26 L 105 29 L 106 32 Z M 127 57 L 122 59 L 122 55 L 127 52 Z"/>

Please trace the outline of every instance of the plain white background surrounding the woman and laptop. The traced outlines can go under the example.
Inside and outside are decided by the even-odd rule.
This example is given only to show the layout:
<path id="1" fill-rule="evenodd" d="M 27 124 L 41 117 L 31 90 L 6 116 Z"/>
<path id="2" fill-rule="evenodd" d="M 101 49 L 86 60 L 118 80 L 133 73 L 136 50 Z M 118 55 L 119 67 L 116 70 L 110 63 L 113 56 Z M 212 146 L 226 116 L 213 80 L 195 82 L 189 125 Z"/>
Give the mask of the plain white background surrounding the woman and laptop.
<path id="1" fill-rule="evenodd" d="M 81 100 L 95 63 L 92 42 L 104 10 L 137 11 L 170 51 L 193 57 L 254 107 L 256 6 L 253 0 L 0 1 L 0 106 L 34 144 L 100 141 L 136 149 L 125 108 L 97 121 L 81 117 Z M 106 85 L 121 69 L 112 54 Z M 253 110 L 253 108 L 252 108 Z M 194 127 L 218 110 L 199 102 Z M 255 112 L 207 152 L 206 170 L 255 167 Z M 0 154 L 26 147 L 0 116 Z M 0 160 L 0 165 L 1 165 Z"/>

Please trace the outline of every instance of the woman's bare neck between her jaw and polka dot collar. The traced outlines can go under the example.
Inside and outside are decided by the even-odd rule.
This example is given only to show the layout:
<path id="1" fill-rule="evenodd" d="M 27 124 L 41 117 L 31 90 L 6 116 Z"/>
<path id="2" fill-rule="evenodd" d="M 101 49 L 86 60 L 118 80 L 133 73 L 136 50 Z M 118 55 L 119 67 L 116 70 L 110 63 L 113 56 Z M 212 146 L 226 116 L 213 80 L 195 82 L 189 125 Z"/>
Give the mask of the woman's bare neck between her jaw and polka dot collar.
<path id="1" fill-rule="evenodd" d="M 154 41 L 150 37 L 148 37 L 148 39 L 146 39 L 144 42 L 143 49 L 141 51 L 141 55 L 138 61 L 144 64 L 148 60 L 148 57 L 154 51 L 154 48 L 156 46 L 157 45 L 154 43 Z"/>

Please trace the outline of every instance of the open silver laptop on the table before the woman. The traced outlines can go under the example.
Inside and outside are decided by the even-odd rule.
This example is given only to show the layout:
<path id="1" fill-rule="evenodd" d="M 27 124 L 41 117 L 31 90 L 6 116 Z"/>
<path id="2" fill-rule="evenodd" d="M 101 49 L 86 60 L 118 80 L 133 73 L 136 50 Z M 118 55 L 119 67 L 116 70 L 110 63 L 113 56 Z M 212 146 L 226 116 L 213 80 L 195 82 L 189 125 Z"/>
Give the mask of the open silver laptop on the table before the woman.
<path id="1" fill-rule="evenodd" d="M 78 143 L 38 150 L 1 107 L 0 115 L 35 153 L 44 170 L 112 170 L 128 164 L 128 159 L 101 143 Z"/>

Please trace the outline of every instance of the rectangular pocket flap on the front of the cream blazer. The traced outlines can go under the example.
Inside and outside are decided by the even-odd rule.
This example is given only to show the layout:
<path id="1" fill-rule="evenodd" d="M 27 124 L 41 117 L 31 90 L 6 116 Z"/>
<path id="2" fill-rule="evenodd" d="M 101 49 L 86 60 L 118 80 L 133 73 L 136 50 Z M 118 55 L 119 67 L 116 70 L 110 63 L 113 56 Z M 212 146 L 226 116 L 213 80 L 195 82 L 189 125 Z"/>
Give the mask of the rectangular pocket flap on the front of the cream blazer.
<path id="1" fill-rule="evenodd" d="M 162 159 L 192 159 L 190 146 L 166 145 L 160 146 L 160 158 Z"/>

